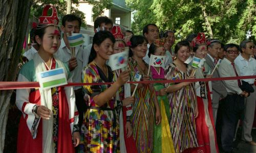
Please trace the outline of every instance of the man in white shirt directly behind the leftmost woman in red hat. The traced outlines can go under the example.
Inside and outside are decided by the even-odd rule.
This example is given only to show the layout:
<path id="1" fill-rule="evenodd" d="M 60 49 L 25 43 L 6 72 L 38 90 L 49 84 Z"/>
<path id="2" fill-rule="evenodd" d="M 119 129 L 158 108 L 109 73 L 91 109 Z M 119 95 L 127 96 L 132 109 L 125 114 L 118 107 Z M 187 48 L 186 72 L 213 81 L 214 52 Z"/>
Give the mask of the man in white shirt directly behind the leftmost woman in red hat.
<path id="1" fill-rule="evenodd" d="M 63 38 L 58 51 L 55 53 L 56 57 L 59 58 L 63 63 L 69 65 L 69 69 L 72 73 L 72 81 L 74 83 L 81 83 L 81 72 L 82 72 L 82 53 L 84 50 L 79 47 L 75 47 L 75 57 L 72 57 L 71 49 L 69 46 L 69 41 L 67 33 L 79 33 L 81 27 L 81 18 L 73 15 L 67 14 L 62 18 L 61 31 L 64 33 Z M 86 105 L 83 101 L 83 93 L 81 86 L 75 86 L 75 97 L 76 97 L 76 107 L 79 112 L 79 127 L 83 121 L 83 113 L 86 109 Z"/>

